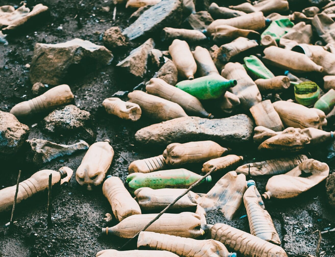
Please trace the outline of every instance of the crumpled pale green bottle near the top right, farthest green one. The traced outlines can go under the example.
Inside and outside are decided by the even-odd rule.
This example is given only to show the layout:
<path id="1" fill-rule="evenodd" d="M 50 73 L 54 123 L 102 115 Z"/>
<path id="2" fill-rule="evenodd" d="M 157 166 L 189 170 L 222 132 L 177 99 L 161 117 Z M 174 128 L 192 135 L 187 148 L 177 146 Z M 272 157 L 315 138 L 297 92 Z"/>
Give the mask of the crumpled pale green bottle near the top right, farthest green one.
<path id="1" fill-rule="evenodd" d="M 288 18 L 277 19 L 271 22 L 269 27 L 261 34 L 261 38 L 266 35 L 271 36 L 276 40 L 277 44 L 279 39 L 284 36 L 290 29 L 294 26 L 294 23 L 291 22 Z"/>

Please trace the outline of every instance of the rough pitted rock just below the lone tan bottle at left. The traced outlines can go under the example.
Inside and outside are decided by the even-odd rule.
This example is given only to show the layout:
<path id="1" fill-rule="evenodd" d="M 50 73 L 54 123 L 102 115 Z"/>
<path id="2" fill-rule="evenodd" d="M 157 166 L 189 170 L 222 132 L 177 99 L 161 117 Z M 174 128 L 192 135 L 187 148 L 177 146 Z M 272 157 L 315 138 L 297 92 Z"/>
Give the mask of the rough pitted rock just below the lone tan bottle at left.
<path id="1" fill-rule="evenodd" d="M 67 105 L 51 112 L 42 121 L 45 130 L 56 134 L 78 134 L 89 143 L 94 142 L 91 114 L 75 105 Z"/>

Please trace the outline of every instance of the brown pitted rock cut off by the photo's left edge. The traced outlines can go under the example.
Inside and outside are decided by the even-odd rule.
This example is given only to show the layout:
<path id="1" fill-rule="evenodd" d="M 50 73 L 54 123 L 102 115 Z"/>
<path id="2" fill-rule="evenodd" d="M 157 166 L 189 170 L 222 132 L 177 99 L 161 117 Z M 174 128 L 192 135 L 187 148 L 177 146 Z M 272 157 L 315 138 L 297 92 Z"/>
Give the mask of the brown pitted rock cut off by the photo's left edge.
<path id="1" fill-rule="evenodd" d="M 0 111 L 0 153 L 15 154 L 28 138 L 29 127 L 9 113 Z"/>

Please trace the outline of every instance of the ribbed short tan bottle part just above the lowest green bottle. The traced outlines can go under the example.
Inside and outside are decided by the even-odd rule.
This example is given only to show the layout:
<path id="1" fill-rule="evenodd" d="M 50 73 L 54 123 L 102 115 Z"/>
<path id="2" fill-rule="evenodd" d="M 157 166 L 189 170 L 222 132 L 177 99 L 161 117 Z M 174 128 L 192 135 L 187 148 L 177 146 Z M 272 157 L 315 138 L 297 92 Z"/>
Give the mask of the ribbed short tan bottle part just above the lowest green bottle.
<path id="1" fill-rule="evenodd" d="M 136 160 L 128 167 L 129 174 L 134 172 L 149 173 L 167 168 L 163 155 L 158 155 L 143 160 Z"/>

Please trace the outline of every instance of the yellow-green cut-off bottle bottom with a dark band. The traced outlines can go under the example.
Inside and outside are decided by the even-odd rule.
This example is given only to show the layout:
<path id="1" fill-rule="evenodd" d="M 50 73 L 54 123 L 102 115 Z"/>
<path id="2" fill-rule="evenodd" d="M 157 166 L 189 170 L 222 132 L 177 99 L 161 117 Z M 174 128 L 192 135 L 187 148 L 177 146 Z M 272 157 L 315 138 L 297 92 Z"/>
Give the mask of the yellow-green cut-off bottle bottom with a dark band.
<path id="1" fill-rule="evenodd" d="M 320 88 L 315 82 L 302 82 L 294 85 L 294 95 L 299 104 L 311 106 L 320 98 Z"/>

